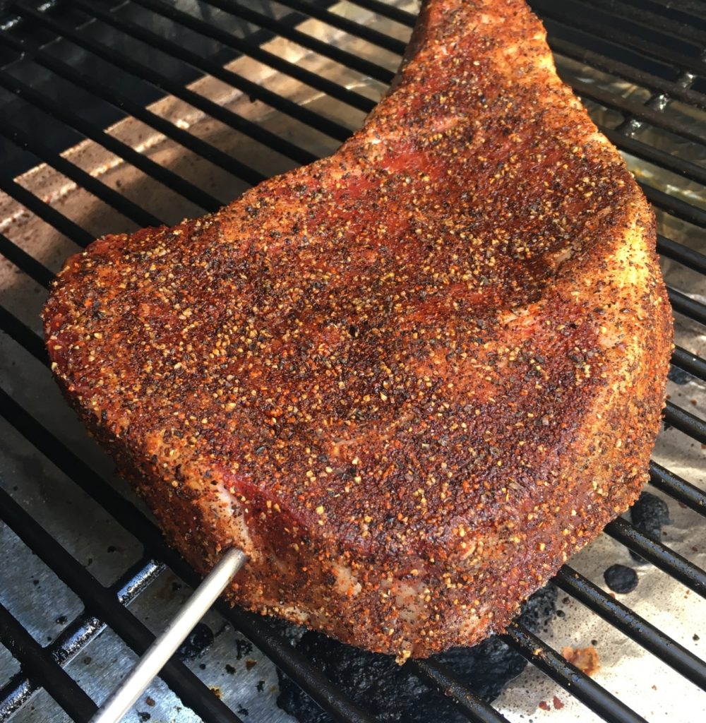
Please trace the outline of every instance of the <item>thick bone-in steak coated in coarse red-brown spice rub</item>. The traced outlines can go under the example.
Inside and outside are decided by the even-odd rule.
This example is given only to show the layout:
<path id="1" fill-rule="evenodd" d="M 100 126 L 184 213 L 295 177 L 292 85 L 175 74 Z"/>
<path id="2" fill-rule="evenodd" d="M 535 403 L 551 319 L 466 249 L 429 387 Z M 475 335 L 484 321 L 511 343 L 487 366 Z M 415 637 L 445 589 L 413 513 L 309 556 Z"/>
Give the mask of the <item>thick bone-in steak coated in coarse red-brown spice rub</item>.
<path id="1" fill-rule="evenodd" d="M 470 645 L 635 500 L 671 349 L 655 222 L 521 0 L 430 0 L 340 150 L 70 258 L 66 398 L 233 602 Z"/>

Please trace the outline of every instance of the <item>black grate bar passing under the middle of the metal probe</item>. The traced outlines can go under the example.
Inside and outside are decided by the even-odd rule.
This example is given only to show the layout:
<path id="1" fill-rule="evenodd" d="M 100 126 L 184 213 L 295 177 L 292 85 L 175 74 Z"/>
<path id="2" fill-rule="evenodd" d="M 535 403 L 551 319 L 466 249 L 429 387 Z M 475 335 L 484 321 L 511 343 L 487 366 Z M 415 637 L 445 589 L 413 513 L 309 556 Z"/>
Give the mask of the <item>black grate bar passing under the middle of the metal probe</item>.
<path id="1" fill-rule="evenodd" d="M 116 594 L 100 585 L 83 565 L 69 555 L 4 489 L 0 489 L 0 500 L 0 517 L 22 542 L 82 599 L 88 612 L 110 625 L 137 654 L 144 653 L 155 639 L 150 630 L 121 605 Z M 242 723 L 220 698 L 210 694 L 205 684 L 176 658 L 165 664 L 160 677 L 181 701 L 205 722 Z"/>

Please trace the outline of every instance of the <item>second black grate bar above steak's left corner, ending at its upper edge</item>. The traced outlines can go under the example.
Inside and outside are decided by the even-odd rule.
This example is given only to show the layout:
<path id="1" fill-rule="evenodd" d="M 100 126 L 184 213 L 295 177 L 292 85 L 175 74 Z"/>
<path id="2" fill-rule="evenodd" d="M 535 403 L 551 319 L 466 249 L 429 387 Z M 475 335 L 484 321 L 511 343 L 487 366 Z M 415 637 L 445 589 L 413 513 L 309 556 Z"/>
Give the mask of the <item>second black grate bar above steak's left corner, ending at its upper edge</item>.
<path id="1" fill-rule="evenodd" d="M 161 226 L 163 224 L 163 221 L 143 209 L 142 206 L 137 205 L 137 203 L 132 202 L 117 191 L 113 191 L 102 181 L 87 174 L 82 168 L 66 161 L 66 158 L 63 158 L 58 153 L 53 153 L 43 142 L 38 140 L 36 134 L 25 133 L 17 126 L 8 123 L 1 116 L 0 134 L 12 140 L 15 145 L 29 150 L 40 161 L 44 161 L 52 168 L 55 168 L 67 179 L 74 181 L 77 186 L 86 189 L 90 194 L 119 211 L 125 218 L 137 223 L 138 226 Z"/>

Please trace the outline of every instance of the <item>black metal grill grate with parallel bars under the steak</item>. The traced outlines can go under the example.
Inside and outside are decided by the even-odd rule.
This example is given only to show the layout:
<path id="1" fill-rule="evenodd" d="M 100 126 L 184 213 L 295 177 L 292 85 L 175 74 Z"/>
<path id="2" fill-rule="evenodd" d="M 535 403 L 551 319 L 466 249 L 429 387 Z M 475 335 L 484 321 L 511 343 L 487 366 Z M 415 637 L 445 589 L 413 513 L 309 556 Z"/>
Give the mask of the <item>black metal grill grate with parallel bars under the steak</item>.
<path id="1" fill-rule="evenodd" d="M 415 18 L 380 0 L 351 0 L 350 4 L 394 21 L 395 35 L 332 12 L 331 3 L 312 0 L 278 0 L 277 4 L 272 4 L 276 12 L 267 4 L 246 0 L 181 4 L 165 0 L 131 0 L 118 7 L 107 0 L 102 3 L 66 0 L 43 5 L 24 0 L 13 3 L 11 12 L 16 17 L 8 16 L 6 27 L 0 33 L 0 61 L 4 61 L 4 67 L 0 69 L 0 88 L 7 98 L 10 95 L 16 98 L 13 103 L 5 103 L 7 98 L 0 103 L 6 109 L 0 114 L 0 136 L 4 138 L 4 147 L 14 146 L 16 155 L 14 166 L 0 168 L 0 189 L 78 247 L 85 247 L 92 241 L 96 229 L 80 226 L 58 205 L 51 205 L 33 193 L 17 180 L 18 173 L 13 172 L 13 168 L 17 171 L 40 161 L 47 163 L 90 192 L 99 205 L 118 212 L 128 222 L 127 226 L 130 222 L 145 226 L 175 220 L 159 218 L 155 210 L 145 208 L 147 204 L 143 205 L 138 199 L 90 175 L 61 154 L 64 147 L 88 139 L 132 164 L 149 184 L 160 184 L 177 197 L 188 200 L 197 210 L 215 210 L 228 200 L 218 195 L 218 189 L 199 187 L 185 174 L 160 165 L 149 155 L 134 150 L 104 130 L 108 123 L 123 116 L 138 119 L 180 145 L 185 153 L 192 153 L 227 171 L 235 179 L 234 189 L 243 189 L 264 178 L 257 163 L 232 155 L 146 107 L 147 103 L 165 94 L 188 103 L 232 132 L 274 152 L 283 168 L 314 160 L 319 153 L 348 137 L 362 114 L 374 107 L 375 93 L 368 92 L 364 85 L 344 85 L 331 80 L 307 69 L 306 64 L 272 54 L 262 44 L 274 37 L 287 38 L 322 59 L 358 74 L 361 79 L 372 79 L 377 84 L 375 87 L 382 89 L 392 80 L 399 55 L 405 48 L 404 38 Z M 614 121 L 600 123 L 600 129 L 608 138 L 625 153 L 685 182 L 706 187 L 704 165 L 688 155 L 680 155 L 668 144 L 660 147 L 643 133 L 645 129 L 660 129 L 677 145 L 689 141 L 706 147 L 703 116 L 700 124 L 689 116 L 694 109 L 706 109 L 706 4 L 661 0 L 567 0 L 562 3 L 533 0 L 531 4 L 546 23 L 554 52 L 569 61 L 577 61 L 560 64 L 564 80 L 592 110 L 597 111 L 595 115 L 599 119 L 611 112 L 614 114 Z M 377 55 L 353 53 L 336 43 L 309 35 L 300 25 L 307 17 L 359 38 L 374 48 Z M 246 27 L 247 32 L 233 32 L 236 26 Z M 159 56 L 159 61 L 146 59 L 145 45 Z M 142 47 L 142 53 L 135 53 L 136 47 Z M 86 69 L 85 64 L 72 61 L 75 58 L 72 53 L 79 51 L 82 58 L 92 59 L 95 72 Z M 383 64 L 376 59 L 380 53 L 388 59 Z M 316 103 L 298 103 L 296 99 L 268 89 L 267 83 L 254 82 L 224 67 L 226 61 L 238 56 L 247 56 L 263 67 L 291 77 L 337 101 L 341 107 L 349 108 L 350 112 L 334 116 L 320 110 Z M 578 63 L 608 74 L 616 82 L 634 84 L 642 93 L 629 95 L 606 89 L 606 84 L 591 82 L 579 72 Z M 33 72 L 40 74 L 43 80 L 50 78 L 51 82 L 33 83 Z M 293 124 L 292 134 L 267 129 L 187 85 L 203 74 L 287 116 Z M 55 92 L 54 88 L 66 89 L 66 93 L 71 93 L 70 97 L 77 100 L 61 102 L 61 93 Z M 90 104 L 82 103 L 81 99 L 87 98 L 90 98 Z M 679 103 L 676 111 L 673 103 Z M 27 119 L 33 119 L 33 123 L 28 124 Z M 304 128 L 308 129 L 301 136 L 308 139 L 305 143 L 297 134 L 297 129 Z M 37 132 L 38 129 L 42 132 Z M 64 147 L 61 142 L 65 142 Z M 706 228 L 706 210 L 699 202 L 676 197 L 660 187 L 658 181 L 647 177 L 640 183 L 660 218 L 671 217 L 694 228 Z M 668 223 L 663 227 L 668 228 Z M 113 229 L 99 228 L 98 233 L 109 230 Z M 706 275 L 706 255 L 699 250 L 667 235 L 659 236 L 658 250 L 695 275 Z M 48 288 L 53 272 L 28 253 L 20 239 L 0 234 L 0 253 L 17 273 L 27 275 L 44 290 Z M 704 283 L 702 276 L 695 278 Z M 669 295 L 678 315 L 706 324 L 705 304 L 676 288 L 670 288 Z M 33 357 L 46 366 L 43 343 L 35 330 L 22 320 L 20 312 L 0 307 L 0 328 L 12 338 L 17 353 L 27 359 L 27 363 Z M 697 380 L 706 380 L 706 361 L 681 346 L 676 347 L 672 364 Z M 43 373 L 48 375 L 48 370 Z M 0 489 L 0 518 L 85 605 L 84 611 L 46 646 L 36 642 L 12 611 L 0 605 L 0 639 L 21 665 L 20 672 L 0 690 L 0 719 L 12 714 L 33 691 L 44 688 L 72 719 L 86 721 L 95 711 L 95 701 L 66 674 L 61 664 L 106 625 L 134 651 L 142 653 L 152 641 L 152 635 L 126 604 L 165 566 L 189 584 L 197 583 L 197 577 L 181 557 L 165 546 L 154 524 L 82 458 L 82 450 L 62 441 L 61 435 L 52 431 L 51 421 L 46 422 L 30 412 L 18 401 L 21 395 L 14 392 L 10 378 L 7 389 L 0 389 L 1 416 L 34 445 L 36 455 L 51 462 L 108 510 L 139 540 L 144 550 L 141 561 L 113 584 L 104 586 L 12 495 Z M 666 424 L 706 444 L 706 422 L 692 412 L 668 402 L 664 418 Z M 657 463 L 650 466 L 650 475 L 651 483 L 662 492 L 699 515 L 706 514 L 706 492 L 702 489 Z M 689 560 L 653 541 L 623 519 L 608 525 L 606 533 L 639 552 L 699 596 L 706 597 L 706 572 Z M 555 583 L 687 680 L 706 690 L 706 662 L 684 646 L 567 566 L 562 568 Z M 311 661 L 290 646 L 267 620 L 225 605 L 218 606 L 218 610 L 335 719 L 372 720 Z M 643 720 L 519 624 L 512 625 L 503 638 L 603 719 L 621 723 Z M 410 673 L 431 688 L 452 696 L 469 720 L 505 720 L 439 663 L 410 661 L 407 666 Z M 165 667 L 162 677 L 181 701 L 204 721 L 241 720 L 183 663 L 173 660 Z"/>

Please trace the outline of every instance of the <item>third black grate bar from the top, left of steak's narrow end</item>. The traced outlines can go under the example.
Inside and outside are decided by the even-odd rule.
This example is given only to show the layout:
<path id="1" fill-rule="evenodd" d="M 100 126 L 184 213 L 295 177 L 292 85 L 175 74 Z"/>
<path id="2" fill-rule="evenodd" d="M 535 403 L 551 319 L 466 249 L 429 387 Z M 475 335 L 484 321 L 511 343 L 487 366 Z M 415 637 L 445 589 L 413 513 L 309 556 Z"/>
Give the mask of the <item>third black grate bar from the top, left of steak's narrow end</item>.
<path id="1" fill-rule="evenodd" d="M 356 70 L 363 75 L 374 78 L 375 80 L 389 83 L 392 78 L 395 77 L 394 72 L 382 67 L 382 65 L 367 61 L 360 56 L 353 55 L 352 53 L 348 53 L 348 51 L 343 51 L 340 48 L 331 46 L 329 43 L 324 43 L 322 40 L 317 40 L 311 35 L 302 33 L 301 30 L 288 27 L 272 17 L 268 17 L 261 12 L 256 12 L 255 10 L 234 2 L 233 0 L 205 1 L 212 7 L 217 7 L 228 14 L 241 17 L 243 20 L 251 22 L 254 25 L 264 27 L 266 30 L 272 30 L 272 32 L 277 33 L 277 35 L 281 35 L 281 37 L 286 38 L 287 40 L 292 40 L 293 43 L 296 43 L 302 48 L 314 51 L 314 53 L 317 53 L 324 58 L 335 61 L 346 68 L 350 68 L 351 70 Z M 302 16 L 302 20 L 306 20 L 306 16 Z"/>

